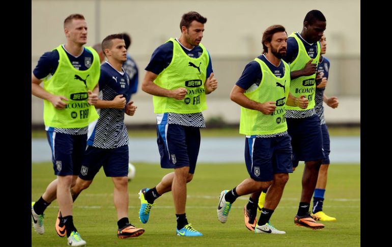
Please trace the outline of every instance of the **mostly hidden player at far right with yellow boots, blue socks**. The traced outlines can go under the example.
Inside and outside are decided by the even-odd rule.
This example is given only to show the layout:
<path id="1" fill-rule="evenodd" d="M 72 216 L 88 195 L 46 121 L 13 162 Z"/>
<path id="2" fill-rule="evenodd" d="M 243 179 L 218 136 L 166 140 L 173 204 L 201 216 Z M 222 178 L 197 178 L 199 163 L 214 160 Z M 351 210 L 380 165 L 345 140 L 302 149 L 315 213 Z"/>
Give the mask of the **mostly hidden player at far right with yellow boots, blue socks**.
<path id="1" fill-rule="evenodd" d="M 323 35 L 320 39 L 320 46 L 321 46 L 321 56 L 319 60 L 319 64 L 317 66 L 317 70 L 323 74 L 322 81 L 319 85 L 316 86 L 316 96 L 315 96 L 315 109 L 316 113 L 320 118 L 321 124 L 321 132 L 323 134 L 323 148 L 324 148 L 324 155 L 325 158 L 321 163 L 321 167 L 319 170 L 319 176 L 317 179 L 316 189 L 313 196 L 313 208 L 312 217 L 316 219 L 316 221 L 336 221 L 335 217 L 328 216 L 323 212 L 323 203 L 324 203 L 324 193 L 325 188 L 327 185 L 327 174 L 328 174 L 328 167 L 329 167 L 329 133 L 328 128 L 325 123 L 324 118 L 324 106 L 323 101 L 331 108 L 336 108 L 339 105 L 339 101 L 337 97 L 330 97 L 328 98 L 325 94 L 325 87 L 327 86 L 328 74 L 329 74 L 329 60 L 322 56 L 325 54 L 327 49 L 327 40 L 325 35 Z"/>

